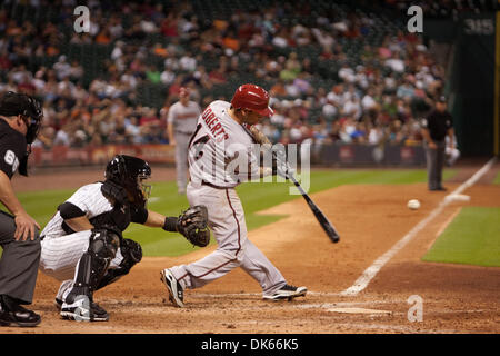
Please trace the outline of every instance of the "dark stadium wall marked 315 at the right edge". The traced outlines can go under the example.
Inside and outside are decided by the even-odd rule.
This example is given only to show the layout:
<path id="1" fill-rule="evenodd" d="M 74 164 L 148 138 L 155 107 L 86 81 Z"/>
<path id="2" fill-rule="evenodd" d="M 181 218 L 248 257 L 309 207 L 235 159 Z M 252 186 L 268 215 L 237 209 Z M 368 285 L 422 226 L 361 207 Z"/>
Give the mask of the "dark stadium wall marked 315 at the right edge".
<path id="1" fill-rule="evenodd" d="M 447 93 L 462 156 L 498 155 L 497 32 L 494 12 L 467 13 L 456 21 L 434 20 L 424 27 L 426 36 L 453 48 Z"/>

